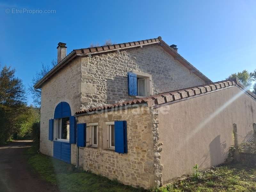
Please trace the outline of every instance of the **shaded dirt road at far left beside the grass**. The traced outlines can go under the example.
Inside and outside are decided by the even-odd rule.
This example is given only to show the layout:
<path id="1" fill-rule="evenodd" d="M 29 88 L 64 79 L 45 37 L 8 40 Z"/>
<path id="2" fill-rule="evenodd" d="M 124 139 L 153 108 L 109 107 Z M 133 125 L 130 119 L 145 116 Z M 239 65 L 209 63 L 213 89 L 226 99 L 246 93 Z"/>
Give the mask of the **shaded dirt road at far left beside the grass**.
<path id="1" fill-rule="evenodd" d="M 1 192 L 57 192 L 52 186 L 32 172 L 24 150 L 31 141 L 15 141 L 0 147 L 0 191 Z"/>

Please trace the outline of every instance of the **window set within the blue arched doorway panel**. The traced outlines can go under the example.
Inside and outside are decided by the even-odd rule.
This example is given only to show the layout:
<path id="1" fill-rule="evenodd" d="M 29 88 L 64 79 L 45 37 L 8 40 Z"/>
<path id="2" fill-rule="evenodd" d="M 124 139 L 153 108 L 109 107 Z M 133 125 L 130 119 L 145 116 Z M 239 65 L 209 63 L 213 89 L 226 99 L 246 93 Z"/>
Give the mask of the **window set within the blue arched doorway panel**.
<path id="1" fill-rule="evenodd" d="M 57 119 L 57 139 L 69 140 L 69 117 Z"/>

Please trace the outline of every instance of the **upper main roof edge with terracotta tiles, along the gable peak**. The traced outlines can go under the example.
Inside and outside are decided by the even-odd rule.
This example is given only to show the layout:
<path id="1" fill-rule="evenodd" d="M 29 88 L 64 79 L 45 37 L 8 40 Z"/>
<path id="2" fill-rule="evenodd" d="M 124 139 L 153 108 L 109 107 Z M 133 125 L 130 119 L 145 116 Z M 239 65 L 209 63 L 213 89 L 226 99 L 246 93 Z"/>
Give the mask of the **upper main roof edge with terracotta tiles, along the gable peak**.
<path id="1" fill-rule="evenodd" d="M 61 68 L 66 66 L 71 60 L 73 60 L 76 56 L 92 56 L 93 54 L 107 53 L 111 51 L 119 51 L 123 49 L 146 46 L 150 44 L 160 44 L 163 49 L 168 52 L 170 55 L 174 57 L 175 60 L 178 60 L 182 65 L 190 70 L 190 72 L 194 73 L 196 76 L 204 80 L 206 83 L 211 83 L 212 81 L 204 76 L 198 69 L 196 69 L 192 64 L 190 64 L 187 60 L 185 60 L 179 53 L 177 53 L 174 49 L 172 49 L 168 44 L 166 44 L 162 37 L 159 36 L 153 39 L 146 39 L 141 41 L 134 41 L 122 44 L 113 44 L 108 46 L 99 46 L 99 47 L 89 47 L 84 49 L 74 49 L 70 52 L 63 60 L 61 60 L 52 70 L 50 70 L 41 80 L 39 80 L 34 88 L 38 89 L 42 87 L 42 84 L 49 80 L 55 73 L 57 73 Z"/>

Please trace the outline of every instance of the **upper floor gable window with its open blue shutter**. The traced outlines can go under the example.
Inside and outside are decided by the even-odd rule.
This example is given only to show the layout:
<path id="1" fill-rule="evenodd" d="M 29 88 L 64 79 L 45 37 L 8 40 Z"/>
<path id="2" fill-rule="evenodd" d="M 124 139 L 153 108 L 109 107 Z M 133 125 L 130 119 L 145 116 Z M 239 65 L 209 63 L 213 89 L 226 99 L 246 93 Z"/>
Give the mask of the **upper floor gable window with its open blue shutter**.
<path id="1" fill-rule="evenodd" d="M 137 71 L 128 72 L 128 92 L 137 97 L 152 95 L 152 76 Z"/>

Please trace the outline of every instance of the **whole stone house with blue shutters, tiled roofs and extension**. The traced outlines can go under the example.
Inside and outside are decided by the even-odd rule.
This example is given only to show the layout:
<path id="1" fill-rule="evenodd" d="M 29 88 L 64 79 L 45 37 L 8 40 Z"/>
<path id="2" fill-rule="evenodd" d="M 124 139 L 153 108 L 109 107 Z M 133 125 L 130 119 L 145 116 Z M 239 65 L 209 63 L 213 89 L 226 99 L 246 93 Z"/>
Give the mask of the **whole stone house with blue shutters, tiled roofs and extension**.
<path id="1" fill-rule="evenodd" d="M 255 95 L 236 80 L 212 83 L 161 37 L 57 50 L 58 65 L 34 86 L 40 152 L 84 170 L 163 185 L 196 163 L 223 163 L 233 123 L 244 135 L 256 121 Z"/>

